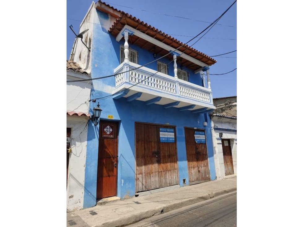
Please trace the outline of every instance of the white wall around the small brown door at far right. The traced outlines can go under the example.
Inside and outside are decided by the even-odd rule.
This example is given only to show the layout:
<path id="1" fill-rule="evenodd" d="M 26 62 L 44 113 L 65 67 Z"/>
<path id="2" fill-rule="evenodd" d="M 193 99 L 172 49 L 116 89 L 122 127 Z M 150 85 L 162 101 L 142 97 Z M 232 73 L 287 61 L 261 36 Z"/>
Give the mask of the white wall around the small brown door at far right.
<path id="1" fill-rule="evenodd" d="M 215 162 L 217 179 L 223 179 L 225 177 L 225 167 L 224 167 L 221 139 L 230 139 L 231 148 L 232 148 L 232 161 L 234 166 L 234 174 L 237 174 L 237 133 L 215 130 L 216 127 L 237 129 L 237 121 L 234 119 L 212 117 L 211 126 L 212 126 L 212 137 L 213 137 L 213 145 L 214 145 L 214 162 Z M 220 132 L 223 133 L 222 138 L 219 137 Z"/>

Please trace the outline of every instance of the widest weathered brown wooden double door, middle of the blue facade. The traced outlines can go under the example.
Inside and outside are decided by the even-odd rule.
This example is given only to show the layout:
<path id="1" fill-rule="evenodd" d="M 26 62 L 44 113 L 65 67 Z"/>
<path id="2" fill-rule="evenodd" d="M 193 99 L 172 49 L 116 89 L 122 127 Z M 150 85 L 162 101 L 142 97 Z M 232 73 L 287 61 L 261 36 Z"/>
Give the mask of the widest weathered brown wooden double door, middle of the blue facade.
<path id="1" fill-rule="evenodd" d="M 178 184 L 177 146 L 160 142 L 160 128 L 174 126 L 135 123 L 136 192 Z"/>

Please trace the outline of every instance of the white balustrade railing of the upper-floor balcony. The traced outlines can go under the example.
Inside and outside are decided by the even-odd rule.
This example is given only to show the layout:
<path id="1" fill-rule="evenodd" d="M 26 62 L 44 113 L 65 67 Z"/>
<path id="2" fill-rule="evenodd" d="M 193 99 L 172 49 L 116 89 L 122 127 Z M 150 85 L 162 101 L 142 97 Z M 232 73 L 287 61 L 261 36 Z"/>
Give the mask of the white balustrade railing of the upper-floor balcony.
<path id="1" fill-rule="evenodd" d="M 209 88 L 204 88 L 202 86 L 177 79 L 146 67 L 141 67 L 139 69 L 124 73 L 125 71 L 137 68 L 139 66 L 140 65 L 132 62 L 123 62 L 115 69 L 114 72 L 119 73 L 115 76 L 115 92 L 121 90 L 122 87 L 128 88 L 136 84 L 134 87 L 146 88 L 144 91 L 146 93 L 152 94 L 157 92 L 157 94 L 154 93 L 155 95 L 163 93 L 163 97 L 167 97 L 165 94 L 173 95 L 175 97 L 179 96 L 180 98 L 203 102 L 213 106 L 212 92 Z M 126 86 L 127 84 L 130 86 Z M 119 89 L 120 87 L 121 89 Z"/>

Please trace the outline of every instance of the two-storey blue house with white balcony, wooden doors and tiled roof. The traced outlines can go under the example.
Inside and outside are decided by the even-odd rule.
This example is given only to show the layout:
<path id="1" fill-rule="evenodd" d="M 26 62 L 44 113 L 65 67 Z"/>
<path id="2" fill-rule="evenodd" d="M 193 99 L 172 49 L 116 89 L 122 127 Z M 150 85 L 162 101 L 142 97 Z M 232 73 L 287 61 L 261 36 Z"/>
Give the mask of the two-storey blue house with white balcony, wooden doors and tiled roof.
<path id="1" fill-rule="evenodd" d="M 215 109 L 209 66 L 216 61 L 101 1 L 92 3 L 80 32 L 71 60 L 93 79 L 90 113 L 98 103 L 102 109 L 89 121 L 79 169 L 83 208 L 215 180 L 208 112 Z"/>

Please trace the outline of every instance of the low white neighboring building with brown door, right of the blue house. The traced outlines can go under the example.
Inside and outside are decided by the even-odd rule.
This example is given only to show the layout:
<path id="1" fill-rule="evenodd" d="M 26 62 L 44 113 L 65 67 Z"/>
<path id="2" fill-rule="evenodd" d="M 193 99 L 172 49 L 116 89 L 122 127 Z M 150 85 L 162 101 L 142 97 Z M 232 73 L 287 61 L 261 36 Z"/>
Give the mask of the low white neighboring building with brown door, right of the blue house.
<path id="1" fill-rule="evenodd" d="M 210 113 L 216 178 L 237 174 L 237 96 L 214 98 Z"/>

